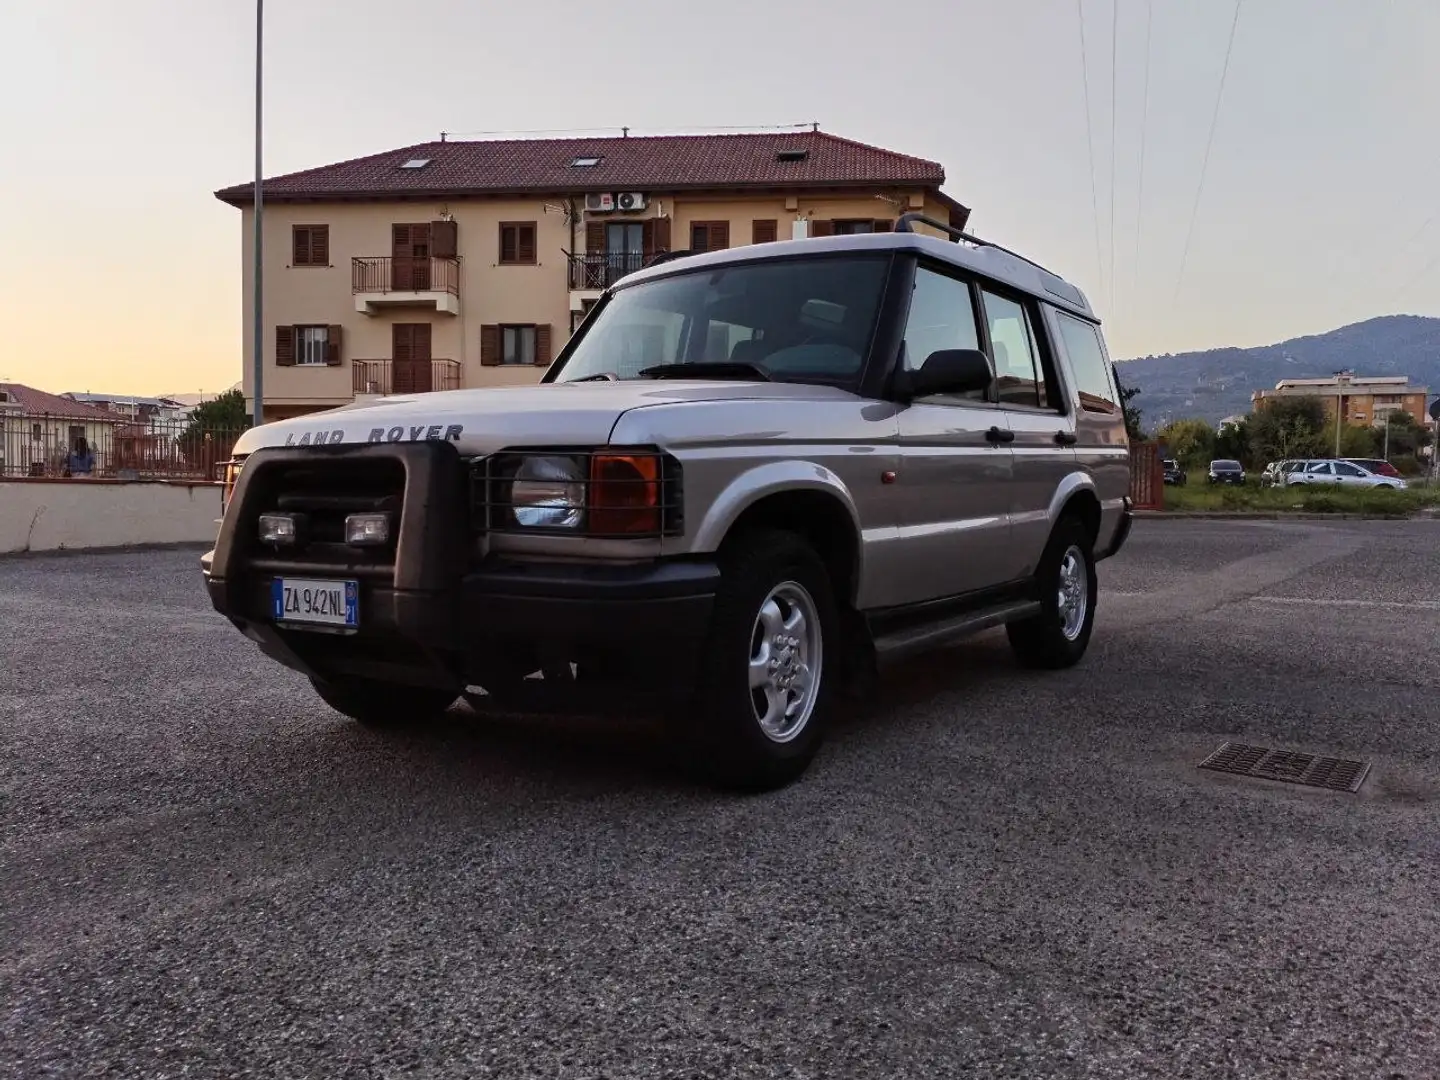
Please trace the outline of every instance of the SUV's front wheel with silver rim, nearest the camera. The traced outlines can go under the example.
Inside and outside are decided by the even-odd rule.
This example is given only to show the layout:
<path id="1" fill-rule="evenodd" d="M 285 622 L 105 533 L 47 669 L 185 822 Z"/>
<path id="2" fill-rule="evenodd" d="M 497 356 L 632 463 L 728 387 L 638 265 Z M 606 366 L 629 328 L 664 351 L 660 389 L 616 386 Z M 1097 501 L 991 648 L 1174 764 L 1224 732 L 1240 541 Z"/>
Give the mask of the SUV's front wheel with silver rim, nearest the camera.
<path id="1" fill-rule="evenodd" d="M 804 773 L 824 740 L 840 616 L 824 563 L 793 533 L 736 537 L 720 570 L 684 736 L 714 783 L 773 791 Z"/>

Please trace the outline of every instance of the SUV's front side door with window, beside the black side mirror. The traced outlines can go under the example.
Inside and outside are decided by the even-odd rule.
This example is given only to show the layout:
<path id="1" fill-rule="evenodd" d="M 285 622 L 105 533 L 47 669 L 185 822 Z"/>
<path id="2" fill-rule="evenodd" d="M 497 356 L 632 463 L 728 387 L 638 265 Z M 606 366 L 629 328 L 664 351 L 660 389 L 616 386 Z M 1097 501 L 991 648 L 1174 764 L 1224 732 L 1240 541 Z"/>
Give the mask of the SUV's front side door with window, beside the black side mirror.
<path id="1" fill-rule="evenodd" d="M 971 285 L 916 269 L 907 369 L 942 348 L 979 348 Z M 991 395 L 922 397 L 900 412 L 900 543 L 894 603 L 959 596 L 1008 576 L 1014 454 Z"/>

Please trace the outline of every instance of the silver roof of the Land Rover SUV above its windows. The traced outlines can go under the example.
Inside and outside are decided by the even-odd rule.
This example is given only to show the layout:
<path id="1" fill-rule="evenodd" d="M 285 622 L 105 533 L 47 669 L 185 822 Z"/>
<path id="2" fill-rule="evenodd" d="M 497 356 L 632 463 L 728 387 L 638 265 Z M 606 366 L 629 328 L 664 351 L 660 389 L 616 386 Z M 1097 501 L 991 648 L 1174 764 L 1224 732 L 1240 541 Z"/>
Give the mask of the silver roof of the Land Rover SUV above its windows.
<path id="1" fill-rule="evenodd" d="M 876 232 L 854 236 L 812 236 L 804 240 L 775 240 L 770 243 L 749 243 L 742 248 L 683 255 L 635 274 L 626 275 L 615 288 L 626 289 L 655 278 L 685 274 L 707 266 L 724 266 L 737 262 L 795 258 L 796 255 L 822 255 L 840 252 L 914 252 L 939 262 L 948 262 L 972 274 L 978 274 L 1014 289 L 1027 292 L 1035 300 L 1079 315 L 1090 323 L 1099 323 L 1099 315 L 1090 307 L 1084 292 L 1044 266 L 1030 262 L 1021 255 L 994 246 L 984 240 L 955 242 L 940 240 L 916 232 Z"/>

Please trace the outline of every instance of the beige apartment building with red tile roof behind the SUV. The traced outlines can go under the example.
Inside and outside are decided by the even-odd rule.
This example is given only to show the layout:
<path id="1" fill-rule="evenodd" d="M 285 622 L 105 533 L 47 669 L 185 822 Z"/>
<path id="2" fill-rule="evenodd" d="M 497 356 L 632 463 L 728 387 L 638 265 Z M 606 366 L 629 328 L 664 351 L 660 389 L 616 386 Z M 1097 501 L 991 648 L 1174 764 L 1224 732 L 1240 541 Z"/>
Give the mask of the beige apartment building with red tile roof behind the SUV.
<path id="1" fill-rule="evenodd" d="M 600 292 L 670 251 L 963 228 L 935 161 L 825 131 L 425 143 L 264 181 L 266 419 L 537 382 Z M 242 212 L 253 403 L 253 186 Z"/>

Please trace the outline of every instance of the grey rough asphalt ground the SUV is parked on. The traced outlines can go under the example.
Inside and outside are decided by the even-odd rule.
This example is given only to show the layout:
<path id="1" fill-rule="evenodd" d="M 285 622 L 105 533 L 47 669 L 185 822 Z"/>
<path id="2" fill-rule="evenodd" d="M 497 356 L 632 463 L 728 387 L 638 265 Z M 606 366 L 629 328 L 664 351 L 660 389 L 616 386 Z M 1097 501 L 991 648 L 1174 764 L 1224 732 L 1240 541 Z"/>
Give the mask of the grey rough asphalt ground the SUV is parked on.
<path id="1" fill-rule="evenodd" d="M 194 552 L 0 562 L 0 1076 L 1440 1076 L 1437 540 L 1139 523 L 1081 667 L 920 661 L 756 798 L 367 733 Z"/>

